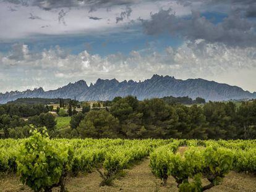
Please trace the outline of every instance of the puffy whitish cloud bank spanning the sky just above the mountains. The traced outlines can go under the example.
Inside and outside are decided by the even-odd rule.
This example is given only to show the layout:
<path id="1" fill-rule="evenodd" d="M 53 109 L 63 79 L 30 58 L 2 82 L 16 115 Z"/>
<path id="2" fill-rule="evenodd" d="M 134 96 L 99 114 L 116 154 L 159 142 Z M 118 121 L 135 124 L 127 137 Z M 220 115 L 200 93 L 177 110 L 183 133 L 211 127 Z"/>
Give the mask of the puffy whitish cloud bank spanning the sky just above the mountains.
<path id="1" fill-rule="evenodd" d="M 99 56 L 82 51 L 79 54 L 56 46 L 39 53 L 30 52 L 25 44 L 15 44 L 8 54 L 0 54 L 0 91 L 43 86 L 45 90 L 58 88 L 69 81 L 84 79 L 87 83 L 97 78 L 118 80 L 145 80 L 154 73 L 177 78 L 206 78 L 236 84 L 250 91 L 256 81 L 256 48 L 233 48 L 223 43 L 205 40 L 187 41 L 179 48 L 165 52 L 150 50 L 131 51 Z M 239 79 L 239 81 L 238 81 Z M 17 86 L 19 85 L 19 86 Z"/>

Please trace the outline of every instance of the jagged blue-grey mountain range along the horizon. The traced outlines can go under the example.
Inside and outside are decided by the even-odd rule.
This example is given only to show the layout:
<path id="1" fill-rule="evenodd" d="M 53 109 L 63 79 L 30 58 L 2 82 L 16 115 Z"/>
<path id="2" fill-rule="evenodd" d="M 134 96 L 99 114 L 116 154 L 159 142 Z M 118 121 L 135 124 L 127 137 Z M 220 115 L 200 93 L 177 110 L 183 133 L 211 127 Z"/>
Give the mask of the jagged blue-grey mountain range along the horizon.
<path id="1" fill-rule="evenodd" d="M 57 90 L 44 91 L 35 88 L 26 91 L 10 91 L 0 93 L 0 103 L 14 101 L 17 98 L 71 98 L 79 101 L 111 100 L 116 96 L 137 96 L 139 100 L 147 98 L 163 98 L 164 96 L 189 96 L 207 101 L 226 101 L 229 99 L 253 99 L 256 92 L 244 91 L 238 86 L 230 86 L 215 81 L 197 79 L 179 80 L 174 77 L 153 75 L 148 80 L 119 82 L 116 79 L 98 79 L 90 86 L 84 80 L 69 83 Z"/>

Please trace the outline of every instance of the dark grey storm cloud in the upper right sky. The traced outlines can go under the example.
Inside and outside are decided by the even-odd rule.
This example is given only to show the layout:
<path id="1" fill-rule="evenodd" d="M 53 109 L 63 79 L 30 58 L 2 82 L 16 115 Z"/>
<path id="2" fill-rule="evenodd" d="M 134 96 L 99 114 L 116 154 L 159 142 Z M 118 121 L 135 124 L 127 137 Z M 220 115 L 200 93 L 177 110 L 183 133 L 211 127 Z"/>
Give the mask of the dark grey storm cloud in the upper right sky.
<path id="1" fill-rule="evenodd" d="M 215 25 L 199 12 L 192 11 L 190 19 L 184 19 L 169 9 L 152 14 L 150 20 L 141 21 L 148 35 L 168 31 L 171 35 L 190 41 L 203 39 L 208 43 L 224 43 L 228 46 L 256 46 L 256 23 L 240 14 L 231 14 Z"/>

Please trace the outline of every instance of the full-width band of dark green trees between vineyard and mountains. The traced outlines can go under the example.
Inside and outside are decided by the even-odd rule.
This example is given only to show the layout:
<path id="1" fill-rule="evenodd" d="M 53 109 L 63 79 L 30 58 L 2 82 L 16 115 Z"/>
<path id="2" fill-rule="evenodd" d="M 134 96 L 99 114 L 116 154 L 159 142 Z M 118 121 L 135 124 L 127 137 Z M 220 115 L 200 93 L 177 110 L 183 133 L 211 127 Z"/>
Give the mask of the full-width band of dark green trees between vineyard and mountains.
<path id="1" fill-rule="evenodd" d="M 0 106 L 0 136 L 26 137 L 28 125 L 32 124 L 46 127 L 49 135 L 57 138 L 256 138 L 255 100 L 242 102 L 239 107 L 234 102 L 211 101 L 203 106 L 185 106 L 164 99 L 139 101 L 127 96 L 114 98 L 108 106 L 101 109 L 86 106 L 82 112 L 72 114 L 70 110 L 70 128 L 62 130 L 56 129 L 55 117 L 47 113 L 46 106 L 38 105 L 36 114 L 32 113 L 33 106 L 27 106 L 35 115 L 26 121 L 20 118 L 25 114 L 22 107 Z"/>

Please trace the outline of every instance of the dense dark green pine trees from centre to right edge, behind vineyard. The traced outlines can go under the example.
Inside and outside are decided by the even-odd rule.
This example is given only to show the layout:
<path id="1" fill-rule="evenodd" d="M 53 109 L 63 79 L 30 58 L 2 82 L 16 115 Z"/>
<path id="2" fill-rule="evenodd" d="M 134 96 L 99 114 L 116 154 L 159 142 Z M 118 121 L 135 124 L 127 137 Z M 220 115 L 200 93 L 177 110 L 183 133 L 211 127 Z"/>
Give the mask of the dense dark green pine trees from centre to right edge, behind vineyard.
<path id="1" fill-rule="evenodd" d="M 256 101 L 208 102 L 187 107 L 163 99 L 115 98 L 110 108 L 72 116 L 80 138 L 256 138 Z"/>

